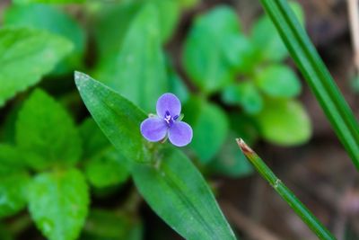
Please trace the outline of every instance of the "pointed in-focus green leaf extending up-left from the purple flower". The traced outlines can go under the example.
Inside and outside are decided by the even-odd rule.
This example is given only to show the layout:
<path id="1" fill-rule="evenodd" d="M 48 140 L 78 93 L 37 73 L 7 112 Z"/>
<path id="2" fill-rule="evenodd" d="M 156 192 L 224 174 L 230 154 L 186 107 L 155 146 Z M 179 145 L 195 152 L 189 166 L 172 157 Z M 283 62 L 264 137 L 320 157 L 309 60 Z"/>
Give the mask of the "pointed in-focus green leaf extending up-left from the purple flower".
<path id="1" fill-rule="evenodd" d="M 140 124 L 146 118 L 144 112 L 90 76 L 76 72 L 74 78 L 93 119 L 118 151 L 129 161 L 150 161 L 144 147 L 147 141 L 140 133 Z"/>

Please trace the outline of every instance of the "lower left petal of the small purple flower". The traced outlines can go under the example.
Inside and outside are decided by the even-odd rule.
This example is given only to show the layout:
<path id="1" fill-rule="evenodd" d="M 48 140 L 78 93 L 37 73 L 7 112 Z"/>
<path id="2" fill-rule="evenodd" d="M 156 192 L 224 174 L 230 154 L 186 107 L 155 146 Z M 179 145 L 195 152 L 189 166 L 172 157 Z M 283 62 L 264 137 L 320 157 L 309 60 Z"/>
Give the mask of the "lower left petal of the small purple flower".
<path id="1" fill-rule="evenodd" d="M 141 123 L 141 134 L 150 142 L 158 142 L 166 137 L 168 126 L 158 117 L 148 118 Z"/>

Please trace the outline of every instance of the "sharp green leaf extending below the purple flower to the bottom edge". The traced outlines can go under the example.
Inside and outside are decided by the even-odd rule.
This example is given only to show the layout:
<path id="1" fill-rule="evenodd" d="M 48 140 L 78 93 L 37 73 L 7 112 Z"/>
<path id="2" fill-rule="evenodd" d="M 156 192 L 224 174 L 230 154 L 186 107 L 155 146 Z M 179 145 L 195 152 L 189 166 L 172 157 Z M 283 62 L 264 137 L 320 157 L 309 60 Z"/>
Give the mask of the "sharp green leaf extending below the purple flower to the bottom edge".
<path id="1" fill-rule="evenodd" d="M 162 159 L 156 166 L 137 164 L 133 172 L 151 208 L 186 239 L 235 239 L 206 181 L 187 156 L 169 151 Z"/>

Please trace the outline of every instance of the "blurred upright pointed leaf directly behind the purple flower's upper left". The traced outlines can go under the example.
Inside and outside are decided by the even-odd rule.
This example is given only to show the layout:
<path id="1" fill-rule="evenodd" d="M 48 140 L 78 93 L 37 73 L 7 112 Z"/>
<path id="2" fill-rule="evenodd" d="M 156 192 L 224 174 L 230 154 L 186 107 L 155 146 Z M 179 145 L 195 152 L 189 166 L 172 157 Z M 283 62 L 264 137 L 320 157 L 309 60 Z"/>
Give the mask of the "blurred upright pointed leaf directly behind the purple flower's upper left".
<path id="1" fill-rule="evenodd" d="M 154 111 L 168 80 L 156 8 L 146 4 L 127 31 L 118 58 L 98 75 L 101 82 L 135 102 L 144 111 Z M 103 70 L 103 69 L 102 69 Z"/>

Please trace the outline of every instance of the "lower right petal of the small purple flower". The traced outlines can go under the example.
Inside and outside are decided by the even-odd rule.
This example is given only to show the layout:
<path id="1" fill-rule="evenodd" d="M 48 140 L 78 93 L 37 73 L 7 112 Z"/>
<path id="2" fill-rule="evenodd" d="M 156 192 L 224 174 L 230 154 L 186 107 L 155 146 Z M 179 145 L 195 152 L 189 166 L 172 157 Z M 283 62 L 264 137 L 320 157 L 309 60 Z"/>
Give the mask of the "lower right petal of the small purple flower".
<path id="1" fill-rule="evenodd" d="M 169 129 L 169 139 L 174 146 L 183 147 L 192 140 L 192 128 L 183 121 L 174 121 Z"/>

